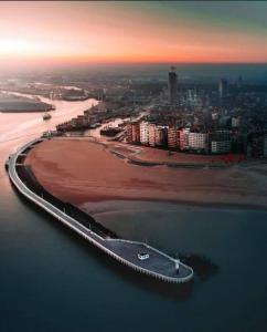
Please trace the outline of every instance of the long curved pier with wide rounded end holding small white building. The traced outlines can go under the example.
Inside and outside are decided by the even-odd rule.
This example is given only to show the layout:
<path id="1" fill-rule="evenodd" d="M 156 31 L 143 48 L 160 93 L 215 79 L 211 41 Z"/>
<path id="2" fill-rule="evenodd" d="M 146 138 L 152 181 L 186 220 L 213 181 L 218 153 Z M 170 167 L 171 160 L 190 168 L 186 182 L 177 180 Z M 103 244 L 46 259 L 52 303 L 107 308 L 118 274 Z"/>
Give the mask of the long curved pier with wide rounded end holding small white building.
<path id="1" fill-rule="evenodd" d="M 89 228 L 78 222 L 78 220 L 68 216 L 64 210 L 61 210 L 53 204 L 33 193 L 26 186 L 26 183 L 23 183 L 18 175 L 18 167 L 23 167 L 23 164 L 18 162 L 18 159 L 20 159 L 21 156 L 25 156 L 25 154 L 33 148 L 34 145 L 41 143 L 43 139 L 39 138 L 25 144 L 19 148 L 17 153 L 11 155 L 9 159 L 10 179 L 24 197 L 84 237 L 93 246 L 99 248 L 122 264 L 126 264 L 138 272 L 151 276 L 162 281 L 175 283 L 186 282 L 193 278 L 192 268 L 180 262 L 178 271 L 175 267 L 175 260 L 172 257 L 148 246 L 147 243 L 100 237 Z M 140 260 L 138 258 L 138 255 L 140 253 L 149 255 L 149 258 Z"/>

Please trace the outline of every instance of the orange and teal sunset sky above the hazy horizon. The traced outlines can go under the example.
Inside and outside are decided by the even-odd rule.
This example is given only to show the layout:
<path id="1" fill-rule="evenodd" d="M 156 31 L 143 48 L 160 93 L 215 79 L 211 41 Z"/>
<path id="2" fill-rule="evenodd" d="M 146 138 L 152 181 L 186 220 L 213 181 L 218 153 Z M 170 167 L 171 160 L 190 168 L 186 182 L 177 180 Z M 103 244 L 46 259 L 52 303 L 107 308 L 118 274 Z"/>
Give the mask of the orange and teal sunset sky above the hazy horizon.
<path id="1" fill-rule="evenodd" d="M 0 65 L 267 62 L 267 3 L 0 2 Z"/>

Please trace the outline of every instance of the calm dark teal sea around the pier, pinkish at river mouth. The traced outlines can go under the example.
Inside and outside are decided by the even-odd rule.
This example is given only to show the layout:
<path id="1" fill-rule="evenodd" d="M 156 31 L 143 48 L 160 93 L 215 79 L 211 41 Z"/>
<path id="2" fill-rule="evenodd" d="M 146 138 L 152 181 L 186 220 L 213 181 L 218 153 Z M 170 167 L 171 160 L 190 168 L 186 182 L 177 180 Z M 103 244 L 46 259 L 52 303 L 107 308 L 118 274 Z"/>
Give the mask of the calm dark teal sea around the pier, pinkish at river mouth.
<path id="1" fill-rule="evenodd" d="M 17 195 L 8 155 L 90 103 L 56 102 L 47 123 L 40 113 L 0 113 L 0 331 L 267 331 L 267 212 L 89 205 L 122 237 L 196 257 L 194 282 L 168 287 L 115 263 Z"/>

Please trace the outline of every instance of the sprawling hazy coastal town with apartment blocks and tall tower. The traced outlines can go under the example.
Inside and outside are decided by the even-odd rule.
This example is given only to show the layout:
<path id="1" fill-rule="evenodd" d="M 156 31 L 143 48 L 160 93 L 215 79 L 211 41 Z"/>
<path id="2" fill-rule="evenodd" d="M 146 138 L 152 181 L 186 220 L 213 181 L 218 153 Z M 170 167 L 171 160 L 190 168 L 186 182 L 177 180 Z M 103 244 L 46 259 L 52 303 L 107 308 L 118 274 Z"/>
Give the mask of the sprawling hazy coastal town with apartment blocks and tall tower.
<path id="1" fill-rule="evenodd" d="M 190 82 L 175 68 L 154 79 L 94 76 L 79 83 L 47 77 L 45 83 L 2 82 L 8 91 L 46 95 L 53 100 L 98 102 L 84 114 L 56 126 L 57 135 L 94 135 L 140 145 L 200 155 L 267 157 L 267 93 L 260 84 L 236 81 Z M 81 81 L 83 83 L 81 83 Z M 114 125 L 115 120 L 121 120 Z"/>

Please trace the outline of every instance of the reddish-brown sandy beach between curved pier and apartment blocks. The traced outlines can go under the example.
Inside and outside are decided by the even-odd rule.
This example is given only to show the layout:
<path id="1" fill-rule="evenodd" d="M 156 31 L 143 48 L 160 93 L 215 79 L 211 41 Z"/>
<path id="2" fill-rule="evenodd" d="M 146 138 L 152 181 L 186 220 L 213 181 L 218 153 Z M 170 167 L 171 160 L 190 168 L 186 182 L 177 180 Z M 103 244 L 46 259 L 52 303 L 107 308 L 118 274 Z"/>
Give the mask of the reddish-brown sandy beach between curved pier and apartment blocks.
<path id="1" fill-rule="evenodd" d="M 116 146 L 135 152 L 130 146 Z M 111 154 L 114 147 L 87 139 L 52 139 L 34 147 L 25 165 L 49 191 L 77 206 L 104 200 L 160 200 L 267 208 L 265 164 L 223 169 L 148 167 Z M 157 149 L 147 149 L 147 160 L 150 154 L 152 160 L 159 158 Z"/>

